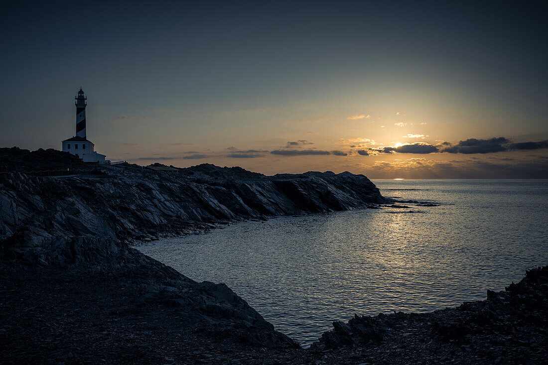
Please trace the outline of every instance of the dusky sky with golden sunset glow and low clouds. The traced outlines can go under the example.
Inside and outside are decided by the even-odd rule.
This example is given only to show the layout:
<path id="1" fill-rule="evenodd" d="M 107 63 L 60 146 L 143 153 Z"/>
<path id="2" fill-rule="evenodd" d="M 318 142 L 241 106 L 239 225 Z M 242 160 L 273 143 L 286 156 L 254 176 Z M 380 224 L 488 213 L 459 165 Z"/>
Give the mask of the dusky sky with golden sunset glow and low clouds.
<path id="1" fill-rule="evenodd" d="M 537 2 L 2 2 L 0 147 L 111 161 L 548 178 Z"/>

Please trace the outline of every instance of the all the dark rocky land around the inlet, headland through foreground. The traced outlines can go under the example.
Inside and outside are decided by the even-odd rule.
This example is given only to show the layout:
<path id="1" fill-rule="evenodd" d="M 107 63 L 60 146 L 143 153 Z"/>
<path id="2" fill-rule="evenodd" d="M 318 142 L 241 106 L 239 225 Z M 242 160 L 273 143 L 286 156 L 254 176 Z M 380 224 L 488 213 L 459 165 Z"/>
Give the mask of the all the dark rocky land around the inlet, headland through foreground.
<path id="1" fill-rule="evenodd" d="M 197 283 L 129 246 L 386 204 L 350 173 L 90 168 L 59 151 L 0 149 L 0 363 L 543 363 L 548 267 L 456 309 L 335 322 L 301 349 L 224 284 Z"/>

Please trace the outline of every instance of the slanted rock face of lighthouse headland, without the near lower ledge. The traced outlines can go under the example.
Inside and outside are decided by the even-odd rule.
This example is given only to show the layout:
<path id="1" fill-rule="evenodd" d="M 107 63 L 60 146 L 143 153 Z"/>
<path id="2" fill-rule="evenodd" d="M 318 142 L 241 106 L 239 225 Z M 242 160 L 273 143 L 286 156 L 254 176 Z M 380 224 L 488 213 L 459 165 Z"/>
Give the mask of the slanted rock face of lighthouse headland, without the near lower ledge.
<path id="1" fill-rule="evenodd" d="M 50 154 L 58 161 L 70 157 Z M 93 255 L 110 259 L 135 239 L 178 236 L 226 221 L 385 202 L 366 176 L 350 173 L 264 176 L 207 164 L 170 171 L 96 166 L 70 177 L 6 171 L 0 173 L 0 242 L 4 253 L 12 249 L 28 260 L 63 265 L 93 261 Z"/>

